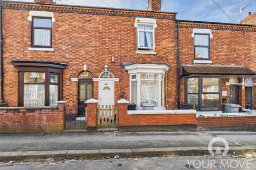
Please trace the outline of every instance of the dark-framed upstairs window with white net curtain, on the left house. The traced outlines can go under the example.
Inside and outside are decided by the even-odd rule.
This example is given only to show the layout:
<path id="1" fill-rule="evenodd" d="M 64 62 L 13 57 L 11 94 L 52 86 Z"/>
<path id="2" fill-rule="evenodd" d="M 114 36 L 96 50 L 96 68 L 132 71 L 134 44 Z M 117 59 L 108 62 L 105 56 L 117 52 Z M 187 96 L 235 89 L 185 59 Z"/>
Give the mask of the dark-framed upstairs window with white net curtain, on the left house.
<path id="1" fill-rule="evenodd" d="M 52 47 L 52 19 L 33 17 L 32 47 Z"/>

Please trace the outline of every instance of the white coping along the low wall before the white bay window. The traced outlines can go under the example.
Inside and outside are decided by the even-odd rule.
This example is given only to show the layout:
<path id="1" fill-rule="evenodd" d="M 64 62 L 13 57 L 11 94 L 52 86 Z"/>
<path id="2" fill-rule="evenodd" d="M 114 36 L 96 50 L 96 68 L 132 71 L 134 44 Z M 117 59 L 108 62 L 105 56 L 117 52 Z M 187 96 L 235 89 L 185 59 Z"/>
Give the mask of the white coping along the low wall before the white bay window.
<path id="1" fill-rule="evenodd" d="M 128 115 L 140 114 L 196 114 L 196 110 L 142 110 L 142 111 L 127 111 Z"/>

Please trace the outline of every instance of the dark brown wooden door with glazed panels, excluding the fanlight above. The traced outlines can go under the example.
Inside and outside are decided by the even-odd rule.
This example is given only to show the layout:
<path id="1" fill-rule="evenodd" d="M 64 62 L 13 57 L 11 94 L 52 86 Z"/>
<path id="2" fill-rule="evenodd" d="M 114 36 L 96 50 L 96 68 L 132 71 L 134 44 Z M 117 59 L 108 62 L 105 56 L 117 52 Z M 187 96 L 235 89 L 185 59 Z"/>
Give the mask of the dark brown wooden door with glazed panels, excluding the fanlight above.
<path id="1" fill-rule="evenodd" d="M 85 101 L 93 98 L 93 82 L 78 83 L 78 114 L 85 114 Z"/>

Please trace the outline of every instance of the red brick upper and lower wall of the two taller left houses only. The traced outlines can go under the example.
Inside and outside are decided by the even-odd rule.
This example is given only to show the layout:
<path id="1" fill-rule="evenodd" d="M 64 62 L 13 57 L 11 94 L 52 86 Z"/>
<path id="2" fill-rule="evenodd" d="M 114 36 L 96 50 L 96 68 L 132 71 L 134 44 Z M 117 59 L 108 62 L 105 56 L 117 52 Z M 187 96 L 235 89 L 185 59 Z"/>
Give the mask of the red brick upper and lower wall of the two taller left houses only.
<path id="1" fill-rule="evenodd" d="M 136 15 L 142 14 L 154 16 L 156 12 L 137 12 Z M 166 15 L 174 16 L 174 14 L 162 13 L 157 15 L 165 18 Z M 29 51 L 31 22 L 28 21 L 28 16 L 29 10 L 7 8 L 3 10 L 4 96 L 10 106 L 18 105 L 18 73 L 11 61 L 36 60 L 68 63 L 63 72 L 63 100 L 67 101 L 67 107 L 77 106 L 77 82 L 71 82 L 70 78 L 77 78 L 84 64 L 94 78 L 98 78 L 105 70 L 105 65 L 108 65 L 108 70 L 115 78 L 120 78 L 119 82 L 115 82 L 116 103 L 121 92 L 124 92 L 126 99 L 129 99 L 129 75 L 122 66 L 123 62 L 168 63 L 171 67 L 168 73 L 167 104 L 169 109 L 176 107 L 177 26 L 170 16 L 169 19 L 156 17 L 156 55 L 135 54 L 137 50 L 135 16 L 63 12 L 54 12 L 52 37 L 54 52 Z M 115 63 L 111 63 L 111 56 L 116 57 Z M 94 98 L 98 99 L 98 82 L 94 82 Z"/>

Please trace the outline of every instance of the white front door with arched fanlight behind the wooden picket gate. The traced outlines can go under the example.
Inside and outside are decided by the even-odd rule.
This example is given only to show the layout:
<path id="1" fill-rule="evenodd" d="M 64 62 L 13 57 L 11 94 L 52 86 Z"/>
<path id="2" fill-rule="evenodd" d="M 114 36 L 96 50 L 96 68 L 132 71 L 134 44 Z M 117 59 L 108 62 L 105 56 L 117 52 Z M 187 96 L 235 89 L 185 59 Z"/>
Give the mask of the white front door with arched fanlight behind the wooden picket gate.
<path id="1" fill-rule="evenodd" d="M 114 75 L 109 71 L 104 71 L 99 75 L 99 105 L 114 105 L 114 96 Z"/>

